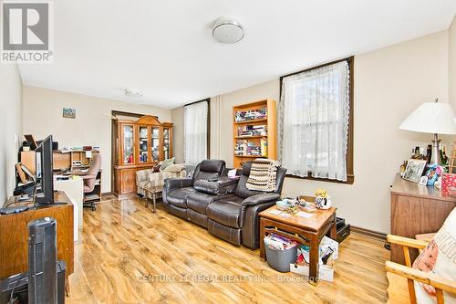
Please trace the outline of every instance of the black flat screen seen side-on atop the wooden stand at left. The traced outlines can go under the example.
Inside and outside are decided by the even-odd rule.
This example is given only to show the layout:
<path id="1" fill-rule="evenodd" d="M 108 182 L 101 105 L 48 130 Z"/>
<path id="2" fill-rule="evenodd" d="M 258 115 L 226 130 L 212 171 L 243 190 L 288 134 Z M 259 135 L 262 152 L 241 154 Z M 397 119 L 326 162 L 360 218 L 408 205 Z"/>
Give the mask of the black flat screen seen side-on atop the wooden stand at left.
<path id="1" fill-rule="evenodd" d="M 37 205 L 54 204 L 52 175 L 52 135 L 36 148 L 36 198 Z"/>

